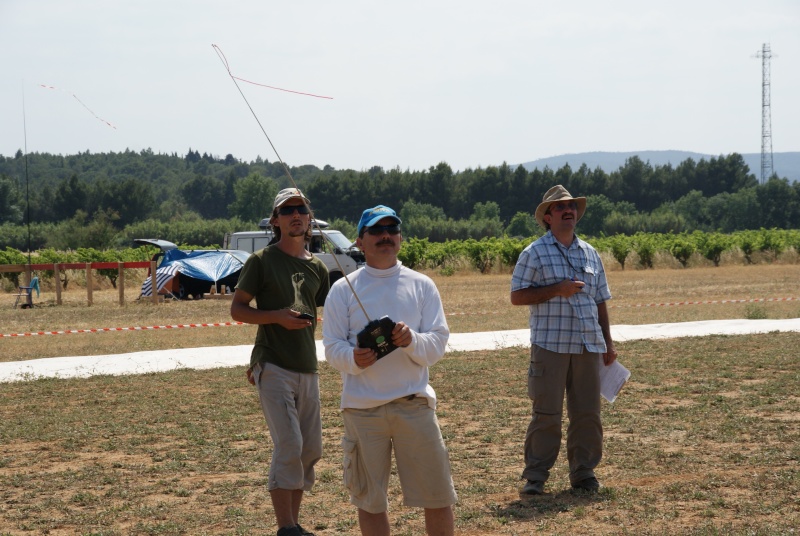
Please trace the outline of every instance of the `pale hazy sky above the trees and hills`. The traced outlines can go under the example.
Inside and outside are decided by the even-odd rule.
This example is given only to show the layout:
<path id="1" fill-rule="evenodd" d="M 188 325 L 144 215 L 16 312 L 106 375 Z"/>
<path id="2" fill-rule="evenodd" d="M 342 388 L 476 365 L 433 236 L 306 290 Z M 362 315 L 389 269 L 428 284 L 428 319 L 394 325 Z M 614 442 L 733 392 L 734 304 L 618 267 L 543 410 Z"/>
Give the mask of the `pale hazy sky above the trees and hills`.
<path id="1" fill-rule="evenodd" d="M 31 153 L 277 160 L 212 44 L 333 97 L 238 82 L 289 165 L 758 153 L 763 43 L 773 150 L 800 151 L 799 28 L 798 0 L 0 0 L 0 155 L 27 130 Z"/>

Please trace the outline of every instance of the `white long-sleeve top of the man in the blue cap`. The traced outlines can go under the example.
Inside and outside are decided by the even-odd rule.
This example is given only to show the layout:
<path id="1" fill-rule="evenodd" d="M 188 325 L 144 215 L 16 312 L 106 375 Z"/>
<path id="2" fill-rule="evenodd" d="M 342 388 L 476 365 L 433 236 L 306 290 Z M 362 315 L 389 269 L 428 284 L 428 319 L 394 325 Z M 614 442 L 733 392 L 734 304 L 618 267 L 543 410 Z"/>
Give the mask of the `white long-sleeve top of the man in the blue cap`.
<path id="1" fill-rule="evenodd" d="M 334 283 L 325 301 L 322 342 L 325 359 L 342 374 L 341 408 L 373 408 L 417 395 L 435 409 L 428 367 L 444 356 L 450 337 L 436 285 L 399 261 L 388 270 L 365 266 L 348 277 L 370 318 L 364 316 L 347 281 Z M 361 369 L 353 358 L 356 337 L 370 319 L 383 316 L 405 322 L 412 331 L 411 344 Z"/>

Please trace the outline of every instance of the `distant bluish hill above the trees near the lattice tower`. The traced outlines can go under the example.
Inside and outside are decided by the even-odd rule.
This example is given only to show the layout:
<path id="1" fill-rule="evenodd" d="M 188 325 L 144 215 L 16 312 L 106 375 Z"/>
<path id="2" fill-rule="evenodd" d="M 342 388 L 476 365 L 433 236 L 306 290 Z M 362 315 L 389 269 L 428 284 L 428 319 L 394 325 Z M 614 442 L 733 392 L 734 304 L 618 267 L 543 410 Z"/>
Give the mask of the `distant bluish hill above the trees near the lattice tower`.
<path id="1" fill-rule="evenodd" d="M 582 164 L 586 164 L 589 169 L 599 167 L 606 173 L 611 173 L 624 166 L 625 160 L 632 156 L 638 156 L 643 162 L 650 162 L 651 166 L 672 164 L 672 167 L 676 167 L 689 158 L 695 162 L 699 162 L 701 159 L 710 160 L 711 158 L 718 158 L 720 155 L 693 153 L 690 151 L 631 151 L 627 153 L 598 151 L 592 153 L 562 154 L 559 156 L 540 158 L 531 162 L 524 162 L 520 165 L 524 166 L 528 171 L 537 168 L 541 170 L 544 169 L 545 166 L 555 171 L 564 167 L 564 164 L 569 164 L 569 167 L 575 171 L 580 168 Z M 745 163 L 750 168 L 750 173 L 754 174 L 756 178 L 759 179 L 761 177 L 761 153 L 743 154 L 742 158 L 744 158 Z M 772 162 L 772 167 L 779 177 L 785 177 L 790 181 L 800 181 L 800 152 L 773 153 Z"/>

